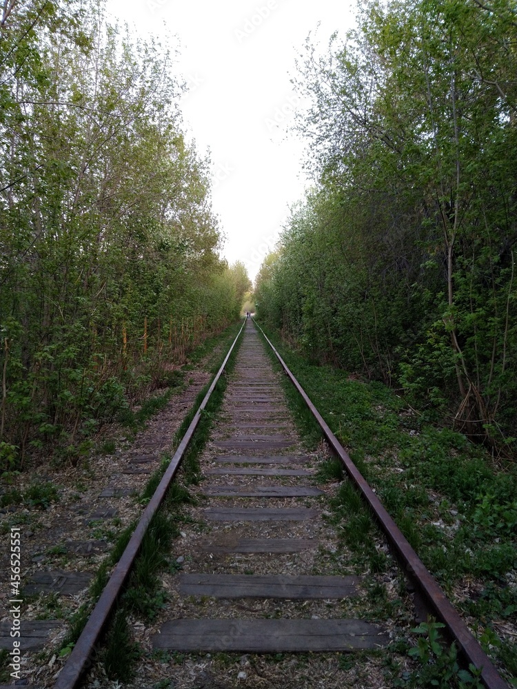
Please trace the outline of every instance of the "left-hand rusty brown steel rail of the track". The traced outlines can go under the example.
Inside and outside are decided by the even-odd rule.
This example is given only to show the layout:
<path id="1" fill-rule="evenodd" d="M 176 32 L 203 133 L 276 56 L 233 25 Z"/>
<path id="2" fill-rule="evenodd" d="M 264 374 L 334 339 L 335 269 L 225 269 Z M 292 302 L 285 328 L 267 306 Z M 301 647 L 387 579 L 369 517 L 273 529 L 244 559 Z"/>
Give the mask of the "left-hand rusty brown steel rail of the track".
<path id="1" fill-rule="evenodd" d="M 192 419 L 192 422 L 190 423 L 185 435 L 183 435 L 181 443 L 179 444 L 178 449 L 176 449 L 172 460 L 170 460 L 169 466 L 165 470 L 159 486 L 156 488 L 156 491 L 154 492 L 154 495 L 152 496 L 148 506 L 145 508 L 139 523 L 136 525 L 133 535 L 130 538 L 130 542 L 126 546 L 125 551 L 122 553 L 119 562 L 116 564 L 108 584 L 106 584 L 103 593 L 101 593 L 101 597 L 94 606 L 94 609 L 88 618 L 88 622 L 85 624 L 81 636 L 79 639 L 77 639 L 77 643 L 72 649 L 70 657 L 59 673 L 59 677 L 54 684 L 54 689 L 74 689 L 74 687 L 76 687 L 79 683 L 83 672 L 85 672 L 85 670 L 92 665 L 92 657 L 94 657 L 95 652 L 97 651 L 97 641 L 103 631 L 106 621 L 108 621 L 108 617 L 112 611 L 115 601 L 117 597 L 119 597 L 121 589 L 128 578 L 128 575 L 130 574 L 134 559 L 139 553 L 145 531 L 147 531 L 152 517 L 154 517 L 155 513 L 158 511 L 158 508 L 165 497 L 165 493 L 167 493 L 170 482 L 174 478 L 176 471 L 179 469 L 183 455 L 185 454 L 185 451 L 192 440 L 194 432 L 196 431 L 197 425 L 199 424 L 199 420 L 201 419 L 201 412 L 203 409 L 205 409 L 208 400 L 210 400 L 210 395 L 212 395 L 219 378 L 221 378 L 227 361 L 230 358 L 237 340 L 239 340 L 239 337 L 241 336 L 245 324 L 246 321 L 243 320 L 243 325 L 241 326 L 236 338 L 232 342 L 232 346 L 228 350 L 225 360 L 221 364 L 219 371 L 217 371 L 214 380 L 212 380 L 212 384 L 203 398 L 203 402 L 201 402 L 199 405 L 199 409 L 196 411 L 196 415 Z"/>

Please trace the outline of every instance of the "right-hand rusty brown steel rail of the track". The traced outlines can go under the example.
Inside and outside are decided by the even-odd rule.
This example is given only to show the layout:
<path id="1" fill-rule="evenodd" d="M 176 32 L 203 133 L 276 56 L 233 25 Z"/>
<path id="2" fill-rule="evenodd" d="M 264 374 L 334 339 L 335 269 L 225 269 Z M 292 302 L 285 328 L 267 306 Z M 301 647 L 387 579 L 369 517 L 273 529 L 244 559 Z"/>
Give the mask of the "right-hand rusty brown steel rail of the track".
<path id="1" fill-rule="evenodd" d="M 354 481 L 358 490 L 363 495 L 365 502 L 372 509 L 379 526 L 381 526 L 382 530 L 387 536 L 387 539 L 389 540 L 390 545 L 394 549 L 398 561 L 401 562 L 403 568 L 405 568 L 407 573 L 412 577 L 420 589 L 420 593 L 422 593 L 425 597 L 427 604 L 429 604 L 430 608 L 432 608 L 432 610 L 434 610 L 436 613 L 436 617 L 443 621 L 449 630 L 449 633 L 452 635 L 452 638 L 458 644 L 458 648 L 463 654 L 463 657 L 469 663 L 472 663 L 475 668 L 481 670 L 481 679 L 487 689 L 508 689 L 507 682 L 500 677 L 495 666 L 492 664 L 483 648 L 481 648 L 481 646 L 478 644 L 478 641 L 476 641 L 474 636 L 470 633 L 467 625 L 449 602 L 445 596 L 445 593 L 438 585 L 438 582 L 436 582 L 436 579 L 434 579 L 429 570 L 427 570 L 412 546 L 409 545 L 409 542 L 401 530 L 395 524 L 389 513 L 387 513 L 385 507 L 381 503 L 381 500 L 378 499 L 374 491 L 372 491 L 372 489 L 369 487 L 363 475 L 361 475 L 354 462 L 352 462 L 350 459 L 347 451 L 343 448 L 334 433 L 332 433 L 330 427 L 327 425 L 316 407 L 314 407 L 314 404 L 311 402 L 307 393 L 305 393 L 301 387 L 301 384 L 298 383 L 298 380 L 296 380 L 293 373 L 287 367 L 287 364 L 283 358 L 280 356 L 278 351 L 276 351 L 270 339 L 267 338 L 263 329 L 256 322 L 255 325 L 263 334 L 263 337 L 274 351 L 276 358 L 278 358 L 278 361 L 283 367 L 285 373 L 290 378 L 292 384 L 294 384 L 294 387 L 296 387 L 298 390 L 298 393 L 300 393 L 305 404 L 307 404 L 307 407 L 314 415 L 314 418 L 316 418 L 316 421 L 321 427 L 327 442 L 343 462 L 347 474 Z"/>

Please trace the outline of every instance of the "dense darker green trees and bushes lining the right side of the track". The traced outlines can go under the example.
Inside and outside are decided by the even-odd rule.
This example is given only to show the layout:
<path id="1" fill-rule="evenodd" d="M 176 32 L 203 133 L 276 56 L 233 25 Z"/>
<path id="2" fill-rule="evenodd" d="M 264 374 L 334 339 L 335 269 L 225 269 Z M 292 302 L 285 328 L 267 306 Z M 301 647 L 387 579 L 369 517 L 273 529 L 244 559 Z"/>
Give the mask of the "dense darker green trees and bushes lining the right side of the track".
<path id="1" fill-rule="evenodd" d="M 315 182 L 259 313 L 500 449 L 517 435 L 515 4 L 365 0 L 327 56 L 305 48 Z"/>

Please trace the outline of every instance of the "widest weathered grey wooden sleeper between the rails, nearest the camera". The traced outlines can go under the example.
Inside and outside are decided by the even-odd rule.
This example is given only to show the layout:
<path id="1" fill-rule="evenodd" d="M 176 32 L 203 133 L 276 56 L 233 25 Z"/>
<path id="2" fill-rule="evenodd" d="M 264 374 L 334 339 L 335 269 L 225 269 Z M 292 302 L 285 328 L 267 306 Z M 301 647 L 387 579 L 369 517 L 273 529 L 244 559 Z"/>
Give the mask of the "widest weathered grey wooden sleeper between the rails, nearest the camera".
<path id="1" fill-rule="evenodd" d="M 174 619 L 152 637 L 154 648 L 201 652 L 332 652 L 387 644 L 382 627 L 361 619 Z"/>

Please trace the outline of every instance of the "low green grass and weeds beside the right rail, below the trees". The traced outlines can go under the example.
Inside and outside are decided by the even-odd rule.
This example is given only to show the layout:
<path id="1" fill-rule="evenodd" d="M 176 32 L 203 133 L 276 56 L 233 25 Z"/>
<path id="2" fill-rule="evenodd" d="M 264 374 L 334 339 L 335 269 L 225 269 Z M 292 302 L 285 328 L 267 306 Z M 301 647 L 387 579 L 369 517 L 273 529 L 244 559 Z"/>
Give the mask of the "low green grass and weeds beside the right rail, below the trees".
<path id="1" fill-rule="evenodd" d="M 485 651 L 517 686 L 516 464 L 495 465 L 483 448 L 428 422 L 383 384 L 309 364 L 278 338 L 267 336 Z M 300 431 L 314 446 L 315 422 L 298 411 L 305 405 L 291 390 L 287 398 Z M 327 471 L 339 480 L 336 467 Z M 341 491 L 348 491 L 346 484 Z M 346 504 L 348 497 L 341 497 Z M 355 521 L 361 520 L 357 513 Z M 363 521 L 349 529 L 351 538 L 366 528 Z M 444 668 L 454 665 L 445 656 L 431 655 L 429 661 Z M 440 679 L 449 681 L 443 686 L 460 686 L 458 672 Z M 476 678 L 471 679 L 464 677 L 465 686 L 476 686 Z M 432 686 L 425 672 L 400 681 L 396 686 Z"/>

